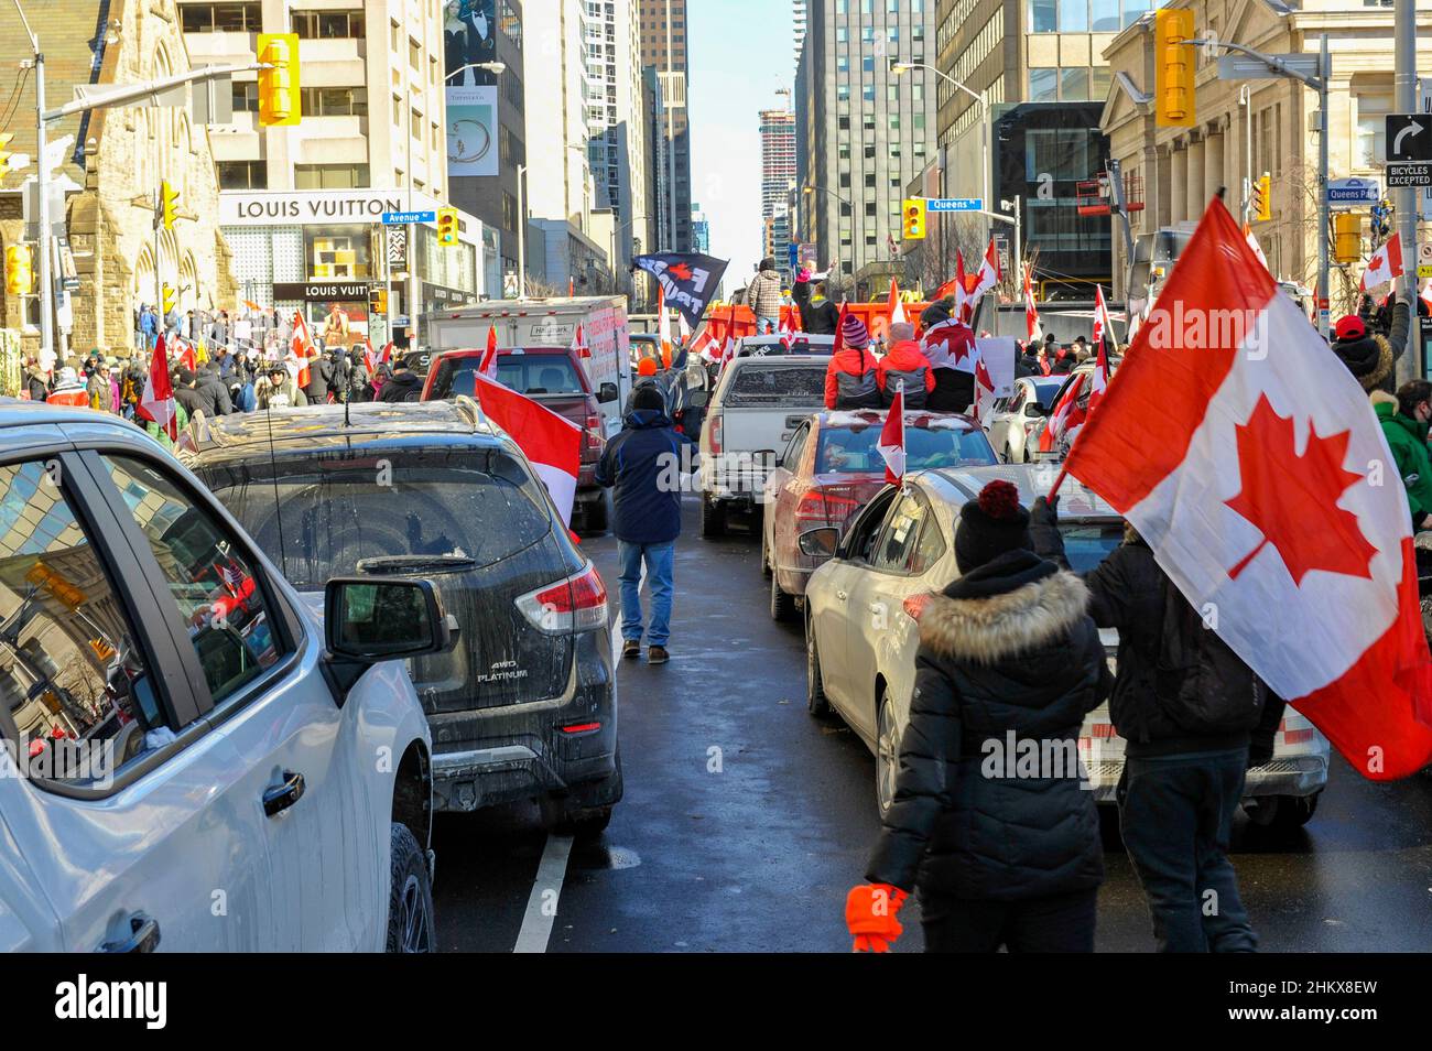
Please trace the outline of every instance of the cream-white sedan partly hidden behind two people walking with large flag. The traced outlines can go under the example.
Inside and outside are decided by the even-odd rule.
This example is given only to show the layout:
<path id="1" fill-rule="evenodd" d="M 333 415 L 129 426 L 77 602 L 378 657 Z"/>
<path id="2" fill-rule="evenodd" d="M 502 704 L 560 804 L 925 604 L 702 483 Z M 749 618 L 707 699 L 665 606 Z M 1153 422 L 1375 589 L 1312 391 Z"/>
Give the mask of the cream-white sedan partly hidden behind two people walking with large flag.
<path id="1" fill-rule="evenodd" d="M 987 483 L 1004 478 L 1028 505 L 1048 491 L 1050 465 L 974 467 L 906 475 L 905 488 L 886 485 L 843 536 L 815 528 L 799 538 L 811 554 L 833 557 L 806 583 L 806 703 L 812 715 L 839 715 L 875 753 L 875 798 L 881 813 L 895 796 L 899 742 L 909 722 L 924 597 L 959 576 L 954 536 L 959 508 Z M 1123 521 L 1073 478 L 1060 490 L 1060 533 L 1070 567 L 1087 573 L 1123 541 Z M 1100 633 L 1110 663 L 1118 637 Z M 1114 669 L 1117 673 L 1117 667 Z M 1108 704 L 1090 712 L 1080 730 L 1088 788 L 1114 800 L 1124 766 L 1124 740 Z M 1297 828 L 1312 818 L 1327 783 L 1329 745 L 1292 707 L 1274 739 L 1273 759 L 1249 770 L 1244 809 L 1260 825 Z"/>

